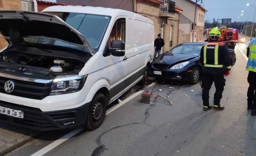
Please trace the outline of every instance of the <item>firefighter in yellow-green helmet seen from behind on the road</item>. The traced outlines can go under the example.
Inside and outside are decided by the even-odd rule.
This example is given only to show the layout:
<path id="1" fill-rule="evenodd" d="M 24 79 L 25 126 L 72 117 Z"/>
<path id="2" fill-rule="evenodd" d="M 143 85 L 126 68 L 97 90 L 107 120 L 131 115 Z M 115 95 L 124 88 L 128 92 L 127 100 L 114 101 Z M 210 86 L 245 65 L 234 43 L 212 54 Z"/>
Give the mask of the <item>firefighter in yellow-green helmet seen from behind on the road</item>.
<path id="1" fill-rule="evenodd" d="M 212 105 L 209 104 L 209 90 L 213 82 L 216 88 L 213 106 L 218 110 L 224 110 L 220 99 L 222 98 L 222 92 L 225 88 L 226 80 L 224 79 L 224 74 L 225 76 L 230 74 L 231 62 L 226 44 L 218 41 L 220 36 L 220 30 L 213 28 L 209 32 L 209 42 L 204 44 L 201 49 L 200 62 L 204 66 L 202 74 L 204 111 L 208 111 L 212 108 Z"/>

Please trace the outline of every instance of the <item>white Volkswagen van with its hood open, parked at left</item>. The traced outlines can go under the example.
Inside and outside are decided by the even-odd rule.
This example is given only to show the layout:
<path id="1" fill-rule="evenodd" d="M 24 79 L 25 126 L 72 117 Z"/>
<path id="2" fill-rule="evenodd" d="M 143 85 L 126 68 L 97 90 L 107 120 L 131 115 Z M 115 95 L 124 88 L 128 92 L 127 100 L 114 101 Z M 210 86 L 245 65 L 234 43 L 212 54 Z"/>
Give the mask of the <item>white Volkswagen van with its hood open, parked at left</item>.
<path id="1" fill-rule="evenodd" d="M 45 12 L 45 13 L 43 13 Z M 40 129 L 98 128 L 109 103 L 147 80 L 154 23 L 120 9 L 0 10 L 0 121 Z"/>

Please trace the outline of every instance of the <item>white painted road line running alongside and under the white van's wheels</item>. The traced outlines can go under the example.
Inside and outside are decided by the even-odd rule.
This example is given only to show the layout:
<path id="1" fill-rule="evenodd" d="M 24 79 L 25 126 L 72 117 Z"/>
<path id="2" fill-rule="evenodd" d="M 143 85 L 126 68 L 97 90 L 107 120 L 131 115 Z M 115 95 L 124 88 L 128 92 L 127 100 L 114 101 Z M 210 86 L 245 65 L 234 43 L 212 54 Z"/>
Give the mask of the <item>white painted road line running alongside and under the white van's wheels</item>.
<path id="1" fill-rule="evenodd" d="M 154 86 L 156 83 L 152 83 L 150 85 L 148 85 L 149 87 Z M 106 115 L 108 115 L 109 113 L 113 112 L 114 110 L 116 110 L 118 107 L 122 106 L 124 103 L 130 101 L 132 98 L 136 97 L 137 95 L 141 94 L 142 92 L 144 92 L 143 90 L 136 92 L 135 94 L 129 96 L 128 98 L 126 98 L 125 100 L 123 100 L 122 102 L 120 102 L 116 107 L 114 107 L 112 110 L 110 110 L 109 112 L 106 113 Z M 55 147 L 57 147 L 58 145 L 62 144 L 63 142 L 65 142 L 67 139 L 71 138 L 72 136 L 74 136 L 75 134 L 77 134 L 78 132 L 80 132 L 81 130 L 83 130 L 84 128 L 76 128 L 74 130 L 72 130 L 71 132 L 67 133 L 66 135 L 62 136 L 61 138 L 57 139 L 56 141 L 54 141 L 53 143 L 47 145 L 46 147 L 42 148 L 41 150 L 37 151 L 36 153 L 32 154 L 31 156 L 42 156 L 45 153 L 49 152 L 50 150 L 54 149 Z"/>

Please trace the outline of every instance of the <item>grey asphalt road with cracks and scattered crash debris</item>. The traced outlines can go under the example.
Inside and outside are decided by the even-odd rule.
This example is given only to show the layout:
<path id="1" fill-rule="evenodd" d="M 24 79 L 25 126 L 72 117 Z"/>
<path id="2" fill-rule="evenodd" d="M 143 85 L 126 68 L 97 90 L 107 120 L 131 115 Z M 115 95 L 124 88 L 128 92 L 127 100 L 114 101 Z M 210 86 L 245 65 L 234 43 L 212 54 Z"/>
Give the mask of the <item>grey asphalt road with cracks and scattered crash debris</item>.
<path id="1" fill-rule="evenodd" d="M 256 118 L 247 110 L 246 44 L 236 46 L 236 64 L 225 77 L 223 111 L 203 111 L 199 83 L 153 83 L 143 89 L 153 91 L 151 103 L 138 102 L 141 92 L 132 89 L 121 103 L 112 104 L 98 129 L 46 132 L 6 156 L 255 156 Z M 214 92 L 213 85 L 210 101 Z M 158 94 L 173 105 L 155 99 Z"/>

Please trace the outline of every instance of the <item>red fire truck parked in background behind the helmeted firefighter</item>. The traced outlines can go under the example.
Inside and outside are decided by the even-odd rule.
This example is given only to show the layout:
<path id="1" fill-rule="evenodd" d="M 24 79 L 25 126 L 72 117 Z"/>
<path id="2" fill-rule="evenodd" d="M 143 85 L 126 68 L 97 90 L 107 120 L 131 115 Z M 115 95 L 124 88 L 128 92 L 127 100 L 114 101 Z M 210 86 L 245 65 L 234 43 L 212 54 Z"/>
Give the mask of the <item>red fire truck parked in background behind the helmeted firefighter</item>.
<path id="1" fill-rule="evenodd" d="M 209 32 L 213 28 L 205 29 L 204 30 L 204 40 L 209 40 Z M 221 32 L 221 36 L 219 37 L 219 41 L 225 43 L 228 48 L 235 49 L 235 45 L 239 44 L 238 40 L 238 31 L 237 29 L 233 28 L 222 28 L 219 29 Z"/>

